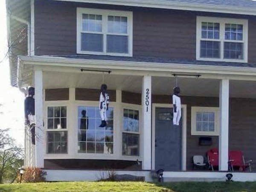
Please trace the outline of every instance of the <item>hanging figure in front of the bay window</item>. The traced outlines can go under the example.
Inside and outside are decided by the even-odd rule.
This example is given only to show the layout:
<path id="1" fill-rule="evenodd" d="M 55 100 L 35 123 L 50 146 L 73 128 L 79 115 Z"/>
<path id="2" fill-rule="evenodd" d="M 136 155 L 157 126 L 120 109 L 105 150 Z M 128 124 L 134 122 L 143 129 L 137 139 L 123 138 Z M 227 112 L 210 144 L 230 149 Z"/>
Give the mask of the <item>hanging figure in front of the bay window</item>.
<path id="1" fill-rule="evenodd" d="M 99 96 L 99 113 L 102 119 L 102 123 L 99 127 L 105 127 L 107 125 L 107 114 L 108 111 L 108 104 L 109 104 L 109 95 L 107 93 L 107 85 L 102 84 L 101 86 L 101 93 Z"/>

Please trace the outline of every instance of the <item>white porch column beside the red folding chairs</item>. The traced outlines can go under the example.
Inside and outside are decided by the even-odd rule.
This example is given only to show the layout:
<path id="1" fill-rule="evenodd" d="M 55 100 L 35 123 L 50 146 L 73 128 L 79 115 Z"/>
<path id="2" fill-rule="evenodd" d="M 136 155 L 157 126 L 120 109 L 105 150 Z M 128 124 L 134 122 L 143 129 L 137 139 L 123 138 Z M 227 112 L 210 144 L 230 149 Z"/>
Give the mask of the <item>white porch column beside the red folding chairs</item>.
<path id="1" fill-rule="evenodd" d="M 228 170 L 229 80 L 222 79 L 219 93 L 219 171 Z"/>

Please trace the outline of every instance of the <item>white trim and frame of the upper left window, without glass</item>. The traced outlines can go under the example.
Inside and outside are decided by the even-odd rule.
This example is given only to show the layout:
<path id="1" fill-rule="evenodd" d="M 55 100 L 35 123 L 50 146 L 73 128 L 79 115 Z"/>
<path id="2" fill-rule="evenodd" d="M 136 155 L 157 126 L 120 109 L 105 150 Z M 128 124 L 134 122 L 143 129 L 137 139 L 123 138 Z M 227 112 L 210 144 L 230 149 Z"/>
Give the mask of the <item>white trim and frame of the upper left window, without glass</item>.
<path id="1" fill-rule="evenodd" d="M 128 56 L 133 54 L 133 13 L 132 11 L 115 11 L 107 9 L 88 9 L 77 8 L 76 18 L 76 52 L 78 54 L 97 54 L 97 55 L 112 55 L 112 56 Z M 82 14 L 100 14 L 102 15 L 102 33 L 103 34 L 103 52 L 81 51 L 81 29 L 82 29 Z M 128 34 L 128 53 L 108 53 L 107 52 L 107 32 L 108 15 L 127 17 L 127 34 Z"/>

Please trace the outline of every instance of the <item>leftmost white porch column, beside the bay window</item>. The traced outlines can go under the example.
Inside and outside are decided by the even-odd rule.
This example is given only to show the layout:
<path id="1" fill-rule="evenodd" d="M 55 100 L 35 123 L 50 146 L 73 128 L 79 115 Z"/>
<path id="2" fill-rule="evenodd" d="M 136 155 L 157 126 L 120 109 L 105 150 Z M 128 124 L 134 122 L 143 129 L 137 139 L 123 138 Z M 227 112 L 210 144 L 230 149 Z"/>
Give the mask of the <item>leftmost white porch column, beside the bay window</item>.
<path id="1" fill-rule="evenodd" d="M 43 72 L 35 71 L 35 166 L 44 167 Z"/>

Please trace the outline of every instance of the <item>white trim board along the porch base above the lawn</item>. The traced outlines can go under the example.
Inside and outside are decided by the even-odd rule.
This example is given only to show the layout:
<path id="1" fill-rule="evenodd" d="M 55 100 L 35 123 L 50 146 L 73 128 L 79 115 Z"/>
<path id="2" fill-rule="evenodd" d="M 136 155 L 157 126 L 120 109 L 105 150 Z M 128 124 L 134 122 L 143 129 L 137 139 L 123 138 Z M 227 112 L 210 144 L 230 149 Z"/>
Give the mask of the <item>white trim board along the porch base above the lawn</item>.
<path id="1" fill-rule="evenodd" d="M 44 169 L 47 172 L 46 181 L 97 181 L 102 175 L 107 176 L 108 170 L 65 170 L 65 169 Z M 145 181 L 152 182 L 150 171 L 125 171 L 117 170 L 116 174 L 130 174 L 144 176 Z M 225 181 L 227 173 L 230 172 L 163 172 L 164 181 Z M 256 181 L 256 173 L 252 172 L 231 172 L 233 181 Z"/>

